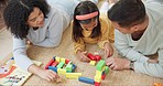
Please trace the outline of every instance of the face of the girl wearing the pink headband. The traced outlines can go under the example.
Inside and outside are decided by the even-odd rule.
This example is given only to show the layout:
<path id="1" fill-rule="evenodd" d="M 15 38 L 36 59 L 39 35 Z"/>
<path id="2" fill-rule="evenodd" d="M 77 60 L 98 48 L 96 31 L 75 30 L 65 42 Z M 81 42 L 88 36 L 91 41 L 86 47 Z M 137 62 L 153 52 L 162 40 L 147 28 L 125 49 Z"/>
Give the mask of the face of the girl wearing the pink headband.
<path id="1" fill-rule="evenodd" d="M 88 24 L 80 23 L 80 26 L 85 30 L 93 31 L 93 29 L 96 28 L 97 24 L 98 24 L 97 19 L 91 19 L 90 23 Z"/>

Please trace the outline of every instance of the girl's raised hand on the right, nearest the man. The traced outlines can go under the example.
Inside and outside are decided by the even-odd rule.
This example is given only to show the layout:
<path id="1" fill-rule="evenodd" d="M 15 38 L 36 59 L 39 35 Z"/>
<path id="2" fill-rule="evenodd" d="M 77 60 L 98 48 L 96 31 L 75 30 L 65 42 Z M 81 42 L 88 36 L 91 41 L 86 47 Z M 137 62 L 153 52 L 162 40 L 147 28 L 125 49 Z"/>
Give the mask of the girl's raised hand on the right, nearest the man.
<path id="1" fill-rule="evenodd" d="M 113 49 L 110 43 L 105 43 L 105 56 L 110 57 L 113 55 Z"/>

